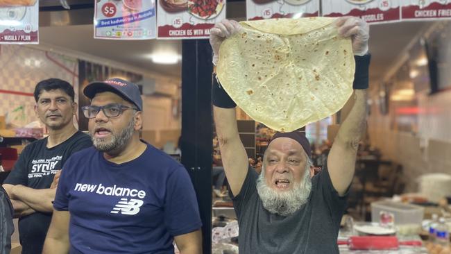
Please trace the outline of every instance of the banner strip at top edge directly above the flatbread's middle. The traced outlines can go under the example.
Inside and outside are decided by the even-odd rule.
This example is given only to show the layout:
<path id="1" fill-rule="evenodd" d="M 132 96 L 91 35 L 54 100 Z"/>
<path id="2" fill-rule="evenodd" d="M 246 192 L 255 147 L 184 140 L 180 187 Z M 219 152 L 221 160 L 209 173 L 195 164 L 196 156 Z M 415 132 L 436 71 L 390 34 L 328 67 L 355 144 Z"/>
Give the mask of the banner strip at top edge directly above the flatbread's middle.
<path id="1" fill-rule="evenodd" d="M 318 17 L 320 0 L 246 0 L 248 20 Z"/>

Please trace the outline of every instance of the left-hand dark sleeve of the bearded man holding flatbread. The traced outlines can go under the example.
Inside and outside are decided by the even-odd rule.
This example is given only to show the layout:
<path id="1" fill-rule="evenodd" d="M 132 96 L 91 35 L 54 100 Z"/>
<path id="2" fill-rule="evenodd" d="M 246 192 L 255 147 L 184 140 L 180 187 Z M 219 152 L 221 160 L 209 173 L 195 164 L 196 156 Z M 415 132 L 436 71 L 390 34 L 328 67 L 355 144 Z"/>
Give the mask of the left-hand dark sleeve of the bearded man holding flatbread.
<path id="1" fill-rule="evenodd" d="M 234 196 L 231 191 L 229 191 L 229 196 L 232 198 L 233 207 L 235 208 L 235 212 L 237 212 L 237 216 L 241 212 L 241 208 L 243 205 L 248 203 L 250 196 L 257 192 L 257 178 L 258 173 L 253 169 L 253 167 L 248 168 L 248 173 L 246 174 L 246 179 L 244 179 L 243 186 L 241 187 L 241 191 L 237 196 Z M 230 189 L 230 186 L 228 187 Z"/>

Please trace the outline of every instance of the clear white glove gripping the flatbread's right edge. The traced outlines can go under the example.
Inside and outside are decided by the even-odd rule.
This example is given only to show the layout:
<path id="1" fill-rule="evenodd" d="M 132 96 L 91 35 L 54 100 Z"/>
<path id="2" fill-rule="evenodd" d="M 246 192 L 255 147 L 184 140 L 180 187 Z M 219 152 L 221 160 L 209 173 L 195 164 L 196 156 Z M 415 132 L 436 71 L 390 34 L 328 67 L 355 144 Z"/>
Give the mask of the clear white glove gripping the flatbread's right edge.
<path id="1" fill-rule="evenodd" d="M 351 37 L 352 51 L 356 56 L 364 56 L 368 53 L 368 39 L 370 38 L 370 26 L 358 17 L 339 17 L 337 19 L 339 35 Z"/>

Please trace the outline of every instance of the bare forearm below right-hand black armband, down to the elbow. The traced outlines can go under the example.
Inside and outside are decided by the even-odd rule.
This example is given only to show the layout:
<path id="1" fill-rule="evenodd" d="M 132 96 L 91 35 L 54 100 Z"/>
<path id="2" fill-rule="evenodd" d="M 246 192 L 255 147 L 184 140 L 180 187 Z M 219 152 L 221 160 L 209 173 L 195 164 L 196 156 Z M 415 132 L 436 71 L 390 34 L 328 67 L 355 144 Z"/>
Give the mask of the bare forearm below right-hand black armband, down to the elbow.
<path id="1" fill-rule="evenodd" d="M 346 142 L 357 149 L 361 135 L 366 130 L 366 99 L 368 91 L 355 90 L 355 102 L 348 117 L 343 121 L 336 137 L 337 142 Z"/>

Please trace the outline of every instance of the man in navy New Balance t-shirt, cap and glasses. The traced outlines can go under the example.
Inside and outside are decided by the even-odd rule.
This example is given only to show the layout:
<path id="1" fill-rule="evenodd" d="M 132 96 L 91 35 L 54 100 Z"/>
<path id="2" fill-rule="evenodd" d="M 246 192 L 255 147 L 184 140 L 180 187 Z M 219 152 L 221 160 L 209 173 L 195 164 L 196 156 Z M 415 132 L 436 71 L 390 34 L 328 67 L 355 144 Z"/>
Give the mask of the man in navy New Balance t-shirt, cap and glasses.
<path id="1" fill-rule="evenodd" d="M 87 85 L 94 147 L 62 169 L 44 253 L 201 253 L 186 169 L 139 139 L 142 99 L 119 78 Z"/>

